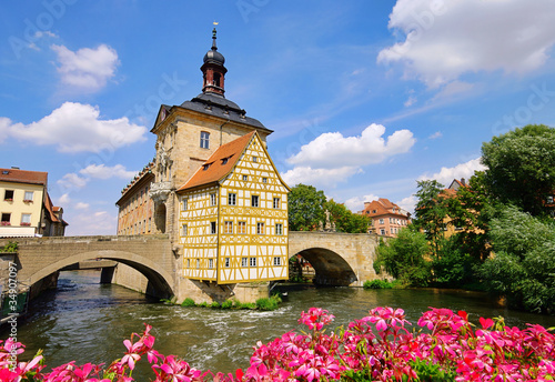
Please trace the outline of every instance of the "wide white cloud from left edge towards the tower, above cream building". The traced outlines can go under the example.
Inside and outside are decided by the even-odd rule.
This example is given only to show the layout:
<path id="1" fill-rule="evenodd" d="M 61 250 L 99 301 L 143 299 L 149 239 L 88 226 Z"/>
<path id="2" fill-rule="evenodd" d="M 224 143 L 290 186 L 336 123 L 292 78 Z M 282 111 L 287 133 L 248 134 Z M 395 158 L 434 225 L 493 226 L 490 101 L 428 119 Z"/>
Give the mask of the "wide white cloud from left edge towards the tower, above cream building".
<path id="1" fill-rule="evenodd" d="M 50 115 L 29 124 L 0 118 L 0 132 L 30 143 L 53 144 L 60 152 L 100 152 L 144 141 L 147 128 L 127 117 L 102 120 L 98 107 L 64 102 Z"/>

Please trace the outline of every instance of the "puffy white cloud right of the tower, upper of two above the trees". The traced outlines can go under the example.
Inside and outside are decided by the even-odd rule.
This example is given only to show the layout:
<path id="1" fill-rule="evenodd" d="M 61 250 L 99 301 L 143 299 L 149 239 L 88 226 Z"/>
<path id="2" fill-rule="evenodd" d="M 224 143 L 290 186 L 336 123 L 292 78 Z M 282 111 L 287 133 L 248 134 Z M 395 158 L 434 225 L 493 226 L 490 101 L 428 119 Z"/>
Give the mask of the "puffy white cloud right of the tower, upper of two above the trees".
<path id="1" fill-rule="evenodd" d="M 372 123 L 360 137 L 340 132 L 323 133 L 289 158 L 292 164 L 313 169 L 353 168 L 380 163 L 389 157 L 407 152 L 416 142 L 408 130 L 397 130 L 384 139 L 385 127 Z"/>

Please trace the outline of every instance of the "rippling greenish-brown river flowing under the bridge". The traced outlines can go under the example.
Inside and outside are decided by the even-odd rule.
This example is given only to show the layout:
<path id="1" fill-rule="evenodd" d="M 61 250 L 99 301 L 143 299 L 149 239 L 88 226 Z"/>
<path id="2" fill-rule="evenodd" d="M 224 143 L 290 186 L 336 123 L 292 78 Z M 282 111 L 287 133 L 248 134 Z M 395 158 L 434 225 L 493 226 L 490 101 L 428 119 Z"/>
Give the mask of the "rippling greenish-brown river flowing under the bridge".
<path id="1" fill-rule="evenodd" d="M 157 338 L 154 348 L 161 353 L 179 355 L 201 370 L 230 372 L 249 365 L 256 341 L 265 343 L 287 331 L 302 330 L 300 313 L 311 306 L 334 314 L 334 328 L 385 305 L 404 309 L 414 326 L 428 306 L 465 310 L 473 321 L 503 315 L 509 325 L 555 326 L 555 316 L 511 311 L 481 293 L 464 291 L 306 286 L 289 291 L 276 311 L 259 312 L 165 305 L 99 280 L 98 271 L 61 272 L 58 290 L 32 302 L 31 313 L 18 325 L 18 340 L 27 345 L 28 356 L 43 349 L 49 366 L 72 360 L 78 364 L 110 363 L 125 351 L 122 341 L 149 323 Z M 2 339 L 7 335 L 6 331 L 0 333 Z M 140 368 L 133 376 L 149 380 L 140 378 L 148 369 Z"/>

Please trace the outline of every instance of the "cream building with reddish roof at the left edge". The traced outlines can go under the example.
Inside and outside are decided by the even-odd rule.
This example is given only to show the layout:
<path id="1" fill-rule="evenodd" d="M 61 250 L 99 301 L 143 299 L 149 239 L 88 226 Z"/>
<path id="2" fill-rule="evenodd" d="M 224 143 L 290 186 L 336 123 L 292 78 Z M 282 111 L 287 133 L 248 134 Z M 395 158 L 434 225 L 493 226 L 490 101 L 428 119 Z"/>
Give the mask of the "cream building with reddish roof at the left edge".
<path id="1" fill-rule="evenodd" d="M 48 194 L 48 172 L 0 169 L 0 238 L 63 235 L 63 209 Z"/>

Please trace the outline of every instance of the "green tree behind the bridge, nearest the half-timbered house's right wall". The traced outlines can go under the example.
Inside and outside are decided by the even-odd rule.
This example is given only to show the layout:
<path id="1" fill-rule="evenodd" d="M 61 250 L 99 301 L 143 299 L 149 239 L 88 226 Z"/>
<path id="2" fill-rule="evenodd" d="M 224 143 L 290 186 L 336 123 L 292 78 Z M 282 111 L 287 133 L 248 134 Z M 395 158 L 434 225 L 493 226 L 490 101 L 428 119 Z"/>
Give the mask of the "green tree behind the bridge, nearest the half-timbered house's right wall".
<path id="1" fill-rule="evenodd" d="M 297 184 L 289 193 L 289 229 L 291 231 L 317 230 L 325 220 L 324 191 L 313 185 Z"/>

